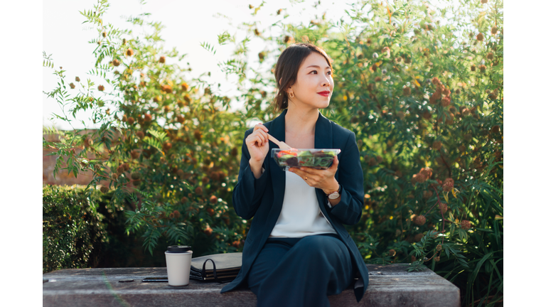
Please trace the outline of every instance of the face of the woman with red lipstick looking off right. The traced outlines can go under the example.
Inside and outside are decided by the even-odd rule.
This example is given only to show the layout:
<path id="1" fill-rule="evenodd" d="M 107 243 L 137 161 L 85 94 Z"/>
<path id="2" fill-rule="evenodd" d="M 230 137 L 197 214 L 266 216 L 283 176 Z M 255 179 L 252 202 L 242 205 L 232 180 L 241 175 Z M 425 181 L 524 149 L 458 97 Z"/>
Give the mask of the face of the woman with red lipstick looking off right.
<path id="1" fill-rule="evenodd" d="M 298 107 L 328 107 L 333 92 L 332 70 L 320 53 L 311 52 L 307 56 L 299 67 L 296 83 L 287 90 L 290 91 L 294 93 L 294 97 L 289 100 Z"/>

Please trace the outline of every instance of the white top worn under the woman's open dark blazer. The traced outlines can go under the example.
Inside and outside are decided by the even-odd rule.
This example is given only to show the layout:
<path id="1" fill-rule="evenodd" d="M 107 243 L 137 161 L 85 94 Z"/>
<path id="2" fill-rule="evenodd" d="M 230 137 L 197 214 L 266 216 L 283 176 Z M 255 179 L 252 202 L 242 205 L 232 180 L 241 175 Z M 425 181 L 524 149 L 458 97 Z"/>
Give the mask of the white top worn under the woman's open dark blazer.
<path id="1" fill-rule="evenodd" d="M 295 173 L 285 171 L 287 185 L 277 224 L 269 237 L 306 237 L 336 233 L 319 208 L 315 188 Z M 328 203 L 328 206 L 330 204 Z"/>

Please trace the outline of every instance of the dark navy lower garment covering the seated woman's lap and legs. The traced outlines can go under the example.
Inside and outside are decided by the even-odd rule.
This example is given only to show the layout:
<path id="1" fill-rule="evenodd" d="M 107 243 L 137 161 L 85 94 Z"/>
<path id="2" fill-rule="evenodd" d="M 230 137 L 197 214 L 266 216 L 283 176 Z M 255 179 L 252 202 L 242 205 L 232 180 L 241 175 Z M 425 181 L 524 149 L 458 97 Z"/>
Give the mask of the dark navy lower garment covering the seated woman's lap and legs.
<path id="1" fill-rule="evenodd" d="M 353 282 L 350 254 L 336 234 L 269 238 L 247 284 L 257 306 L 330 306 L 328 297 Z"/>

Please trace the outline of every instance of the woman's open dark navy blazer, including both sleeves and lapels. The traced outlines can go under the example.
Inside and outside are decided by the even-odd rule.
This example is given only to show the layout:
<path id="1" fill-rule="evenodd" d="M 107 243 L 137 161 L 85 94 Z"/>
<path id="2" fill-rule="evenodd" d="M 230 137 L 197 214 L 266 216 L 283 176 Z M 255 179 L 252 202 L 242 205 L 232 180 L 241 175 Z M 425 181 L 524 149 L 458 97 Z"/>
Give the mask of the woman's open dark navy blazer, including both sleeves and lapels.
<path id="1" fill-rule="evenodd" d="M 279 117 L 264 124 L 269 129 L 269 134 L 279 141 L 285 140 L 284 116 L 286 114 L 287 109 L 284 109 Z M 254 127 L 245 131 L 245 140 L 253 129 Z M 242 249 L 241 270 L 235 280 L 224 286 L 220 293 L 231 291 L 246 284 L 248 271 L 271 234 L 281 213 L 284 200 L 286 176 L 271 156 L 271 149 L 279 147 L 273 142 L 269 142 L 269 154 L 267 154 L 262 166 L 265 171 L 262 176 L 256 179 L 248 163 L 250 154 L 245 140 L 242 142 L 238 183 L 233 189 L 233 207 L 237 215 L 243 219 L 249 220 L 252 217 L 254 219 L 247 233 L 245 246 Z M 360 301 L 366 288 L 368 288 L 368 269 L 364 264 L 362 255 L 358 252 L 358 247 L 343 226 L 344 224 L 355 225 L 360 220 L 364 203 L 364 176 L 355 134 L 353 131 L 326 119 L 319 113 L 319 119 L 317 119 L 315 126 L 315 148 L 341 149 L 341 153 L 338 155 L 338 171 L 336 172 L 336 180 L 341 185 L 341 201 L 333 208 L 329 208 L 326 205 L 328 200 L 323 190 L 319 188 L 315 190 L 321 211 L 350 252 L 353 268 L 355 269 L 354 291 L 356 301 Z M 243 283 L 243 281 L 245 282 Z"/>

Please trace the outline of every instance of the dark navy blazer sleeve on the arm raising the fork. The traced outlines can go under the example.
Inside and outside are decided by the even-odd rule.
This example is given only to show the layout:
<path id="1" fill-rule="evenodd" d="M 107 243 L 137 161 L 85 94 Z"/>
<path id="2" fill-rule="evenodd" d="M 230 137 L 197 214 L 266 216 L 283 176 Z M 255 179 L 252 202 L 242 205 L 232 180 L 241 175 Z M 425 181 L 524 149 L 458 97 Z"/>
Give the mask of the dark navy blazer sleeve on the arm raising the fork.
<path id="1" fill-rule="evenodd" d="M 239 177 L 237 185 L 233 188 L 232 203 L 237 215 L 245 220 L 252 218 L 258 210 L 262 195 L 267 183 L 267 168 L 262 168 L 262 176 L 255 178 L 250 169 L 250 153 L 245 143 L 247 136 L 252 133 L 251 130 L 245 131 L 245 138 L 242 141 L 241 165 L 239 168 Z"/>

